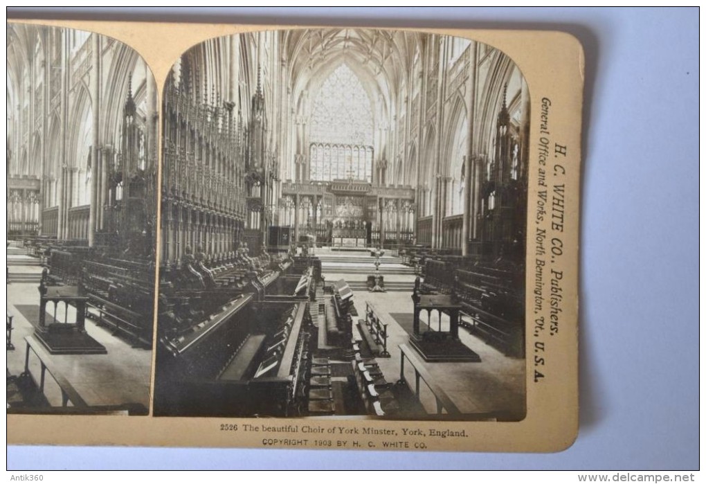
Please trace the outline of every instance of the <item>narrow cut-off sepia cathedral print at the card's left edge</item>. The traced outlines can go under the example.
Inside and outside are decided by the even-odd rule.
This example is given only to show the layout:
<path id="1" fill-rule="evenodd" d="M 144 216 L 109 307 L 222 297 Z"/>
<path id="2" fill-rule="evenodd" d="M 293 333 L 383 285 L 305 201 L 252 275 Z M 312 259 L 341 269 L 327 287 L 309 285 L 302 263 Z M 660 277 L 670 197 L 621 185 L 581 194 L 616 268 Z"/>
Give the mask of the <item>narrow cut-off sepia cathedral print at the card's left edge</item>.
<path id="1" fill-rule="evenodd" d="M 7 24 L 7 412 L 148 415 L 157 90 L 130 47 Z"/>

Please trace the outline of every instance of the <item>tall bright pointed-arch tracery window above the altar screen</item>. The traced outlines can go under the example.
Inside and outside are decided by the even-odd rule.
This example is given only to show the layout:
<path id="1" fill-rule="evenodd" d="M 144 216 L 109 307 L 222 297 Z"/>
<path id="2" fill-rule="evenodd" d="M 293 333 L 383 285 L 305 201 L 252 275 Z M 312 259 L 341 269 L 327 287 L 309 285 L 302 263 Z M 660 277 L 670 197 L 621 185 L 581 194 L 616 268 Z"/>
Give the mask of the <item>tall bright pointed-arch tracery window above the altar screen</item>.
<path id="1" fill-rule="evenodd" d="M 321 85 L 311 112 L 309 178 L 371 182 L 373 111 L 358 76 L 342 64 Z"/>

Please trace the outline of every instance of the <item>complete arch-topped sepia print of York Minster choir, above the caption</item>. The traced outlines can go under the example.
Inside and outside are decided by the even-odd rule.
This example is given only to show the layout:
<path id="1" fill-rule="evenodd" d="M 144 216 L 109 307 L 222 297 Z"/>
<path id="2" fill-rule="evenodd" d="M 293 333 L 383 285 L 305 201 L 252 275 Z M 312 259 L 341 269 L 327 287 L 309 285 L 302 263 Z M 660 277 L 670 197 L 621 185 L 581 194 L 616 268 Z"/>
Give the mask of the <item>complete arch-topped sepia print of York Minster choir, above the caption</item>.
<path id="1" fill-rule="evenodd" d="M 525 418 L 512 59 L 268 30 L 189 49 L 162 102 L 154 415 Z"/>

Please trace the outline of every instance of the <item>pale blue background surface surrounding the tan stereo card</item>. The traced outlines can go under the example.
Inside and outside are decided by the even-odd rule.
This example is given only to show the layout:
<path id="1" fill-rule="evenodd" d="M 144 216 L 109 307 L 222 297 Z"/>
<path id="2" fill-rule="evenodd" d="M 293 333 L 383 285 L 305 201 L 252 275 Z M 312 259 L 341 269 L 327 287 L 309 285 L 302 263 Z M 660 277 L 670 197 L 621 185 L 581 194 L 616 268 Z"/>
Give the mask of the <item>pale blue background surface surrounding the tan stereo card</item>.
<path id="1" fill-rule="evenodd" d="M 8 8 L 10 18 L 550 29 L 586 52 L 580 432 L 556 454 L 8 447 L 9 469 L 693 469 L 699 449 L 699 12 Z"/>

